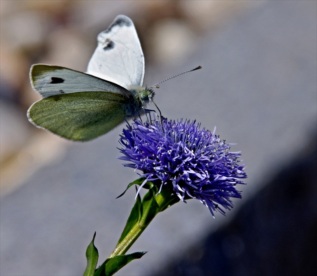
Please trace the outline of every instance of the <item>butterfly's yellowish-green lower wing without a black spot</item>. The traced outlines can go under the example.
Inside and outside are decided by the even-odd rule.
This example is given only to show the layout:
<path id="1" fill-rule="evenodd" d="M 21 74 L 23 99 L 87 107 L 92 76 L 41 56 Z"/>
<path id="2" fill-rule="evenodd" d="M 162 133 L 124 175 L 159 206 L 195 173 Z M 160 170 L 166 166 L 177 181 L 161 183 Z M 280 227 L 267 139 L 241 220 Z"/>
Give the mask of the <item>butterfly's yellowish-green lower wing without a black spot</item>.
<path id="1" fill-rule="evenodd" d="M 78 92 L 48 97 L 28 110 L 29 120 L 74 141 L 88 141 L 123 122 L 131 99 L 110 92 Z"/>

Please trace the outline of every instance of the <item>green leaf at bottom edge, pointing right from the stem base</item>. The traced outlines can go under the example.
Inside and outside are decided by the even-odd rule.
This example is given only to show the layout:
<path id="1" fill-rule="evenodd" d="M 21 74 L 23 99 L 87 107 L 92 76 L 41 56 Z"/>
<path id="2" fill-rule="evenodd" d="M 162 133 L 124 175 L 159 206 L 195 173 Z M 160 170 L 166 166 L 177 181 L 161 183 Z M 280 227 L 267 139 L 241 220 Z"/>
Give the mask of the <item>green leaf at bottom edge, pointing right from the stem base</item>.
<path id="1" fill-rule="evenodd" d="M 107 259 L 96 271 L 94 276 L 111 276 L 130 261 L 141 258 L 146 252 L 134 252 L 127 255 L 118 255 Z"/>

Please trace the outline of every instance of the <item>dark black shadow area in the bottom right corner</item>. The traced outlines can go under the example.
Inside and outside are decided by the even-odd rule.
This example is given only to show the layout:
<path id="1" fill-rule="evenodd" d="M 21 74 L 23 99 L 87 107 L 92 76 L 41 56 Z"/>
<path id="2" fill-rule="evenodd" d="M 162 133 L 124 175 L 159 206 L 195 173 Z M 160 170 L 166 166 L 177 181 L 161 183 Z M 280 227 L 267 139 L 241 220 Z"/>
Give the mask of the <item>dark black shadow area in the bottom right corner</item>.
<path id="1" fill-rule="evenodd" d="M 317 151 L 312 136 L 298 158 L 269 176 L 270 183 L 231 223 L 155 274 L 316 275 Z"/>

